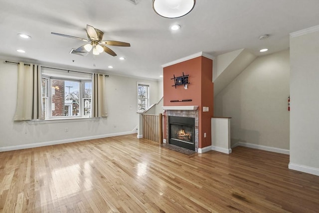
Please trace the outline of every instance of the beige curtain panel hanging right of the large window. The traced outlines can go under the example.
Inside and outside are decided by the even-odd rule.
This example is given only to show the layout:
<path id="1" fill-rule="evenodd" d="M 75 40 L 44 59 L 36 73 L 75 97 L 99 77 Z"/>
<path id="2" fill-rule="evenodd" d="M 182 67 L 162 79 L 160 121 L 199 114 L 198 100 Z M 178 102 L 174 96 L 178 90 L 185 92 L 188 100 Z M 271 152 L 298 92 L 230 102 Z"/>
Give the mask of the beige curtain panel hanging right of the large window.
<path id="1" fill-rule="evenodd" d="M 108 116 L 105 94 L 106 88 L 104 75 L 94 73 L 92 77 L 92 103 L 90 113 L 91 118 Z"/>

